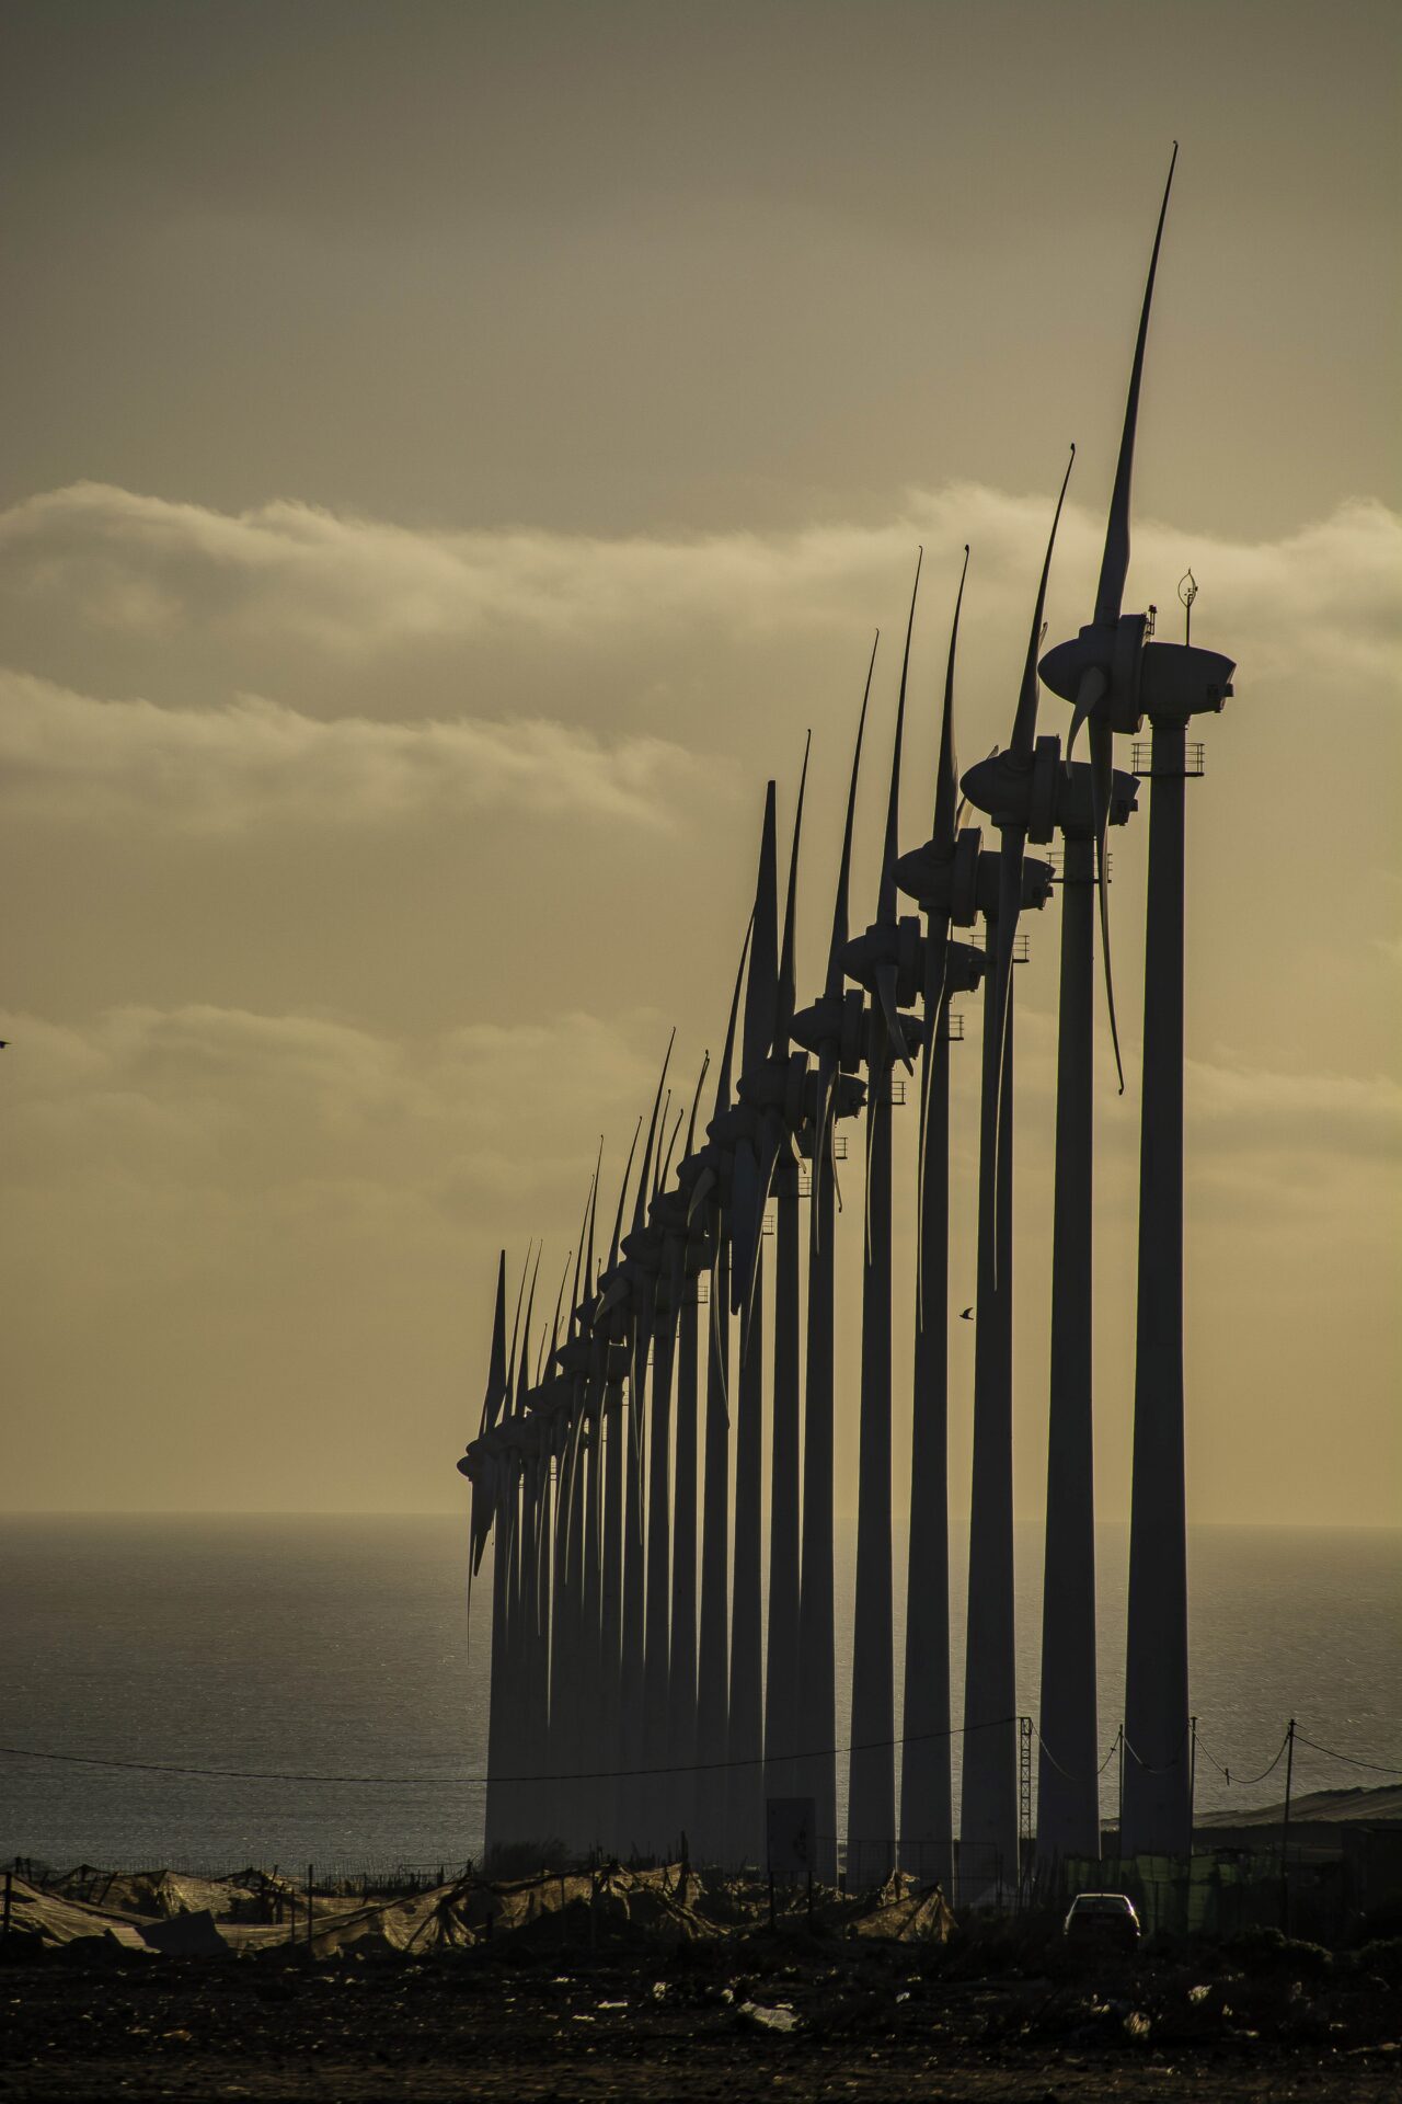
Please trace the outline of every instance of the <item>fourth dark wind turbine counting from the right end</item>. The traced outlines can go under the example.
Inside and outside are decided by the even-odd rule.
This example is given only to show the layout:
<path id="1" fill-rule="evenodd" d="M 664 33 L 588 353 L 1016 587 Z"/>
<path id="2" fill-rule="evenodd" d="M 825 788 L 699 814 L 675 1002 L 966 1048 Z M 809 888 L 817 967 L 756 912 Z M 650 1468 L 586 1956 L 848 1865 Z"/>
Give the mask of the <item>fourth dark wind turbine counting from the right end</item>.
<path id="1" fill-rule="evenodd" d="M 988 964 L 950 940 L 977 913 L 980 835 L 956 833 L 954 654 L 969 549 L 958 579 L 944 673 L 931 837 L 902 854 L 895 884 L 925 911 L 921 1153 L 916 1193 L 916 1330 L 910 1439 L 910 1553 L 906 1563 L 906 1694 L 900 1786 L 902 1868 L 952 1891 L 950 1788 L 950 1492 L 948 1492 L 948 1252 L 950 1252 L 950 999 L 977 987 Z"/>

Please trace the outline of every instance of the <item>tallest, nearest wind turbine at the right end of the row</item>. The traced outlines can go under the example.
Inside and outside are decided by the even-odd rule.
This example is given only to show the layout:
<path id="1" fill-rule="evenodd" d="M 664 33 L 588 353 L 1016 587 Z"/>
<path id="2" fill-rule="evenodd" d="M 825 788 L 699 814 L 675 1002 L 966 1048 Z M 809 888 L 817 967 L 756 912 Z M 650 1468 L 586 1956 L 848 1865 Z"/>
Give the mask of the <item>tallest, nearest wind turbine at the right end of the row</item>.
<path id="1" fill-rule="evenodd" d="M 1173 149 L 1177 160 L 1177 147 Z M 1188 722 L 1219 711 L 1234 665 L 1190 644 L 1150 644 L 1148 614 L 1125 614 L 1129 490 L 1143 347 L 1173 164 L 1150 257 L 1110 499 L 1095 619 L 1040 663 L 1053 694 L 1085 722 L 1099 869 L 1101 949 L 1110 989 L 1106 825 L 1114 732 L 1154 726 L 1150 877 L 1143 951 L 1143 1100 L 1139 1124 L 1139 1311 L 1135 1450 L 1129 1521 L 1125 1660 L 1125 1803 L 1120 1854 L 1185 1856 L 1192 1847 L 1188 1759 L 1188 1530 L 1183 1483 L 1183 783 Z M 1114 1029 L 1114 999 L 1110 999 Z M 1116 1046 L 1118 1058 L 1118 1046 Z"/>

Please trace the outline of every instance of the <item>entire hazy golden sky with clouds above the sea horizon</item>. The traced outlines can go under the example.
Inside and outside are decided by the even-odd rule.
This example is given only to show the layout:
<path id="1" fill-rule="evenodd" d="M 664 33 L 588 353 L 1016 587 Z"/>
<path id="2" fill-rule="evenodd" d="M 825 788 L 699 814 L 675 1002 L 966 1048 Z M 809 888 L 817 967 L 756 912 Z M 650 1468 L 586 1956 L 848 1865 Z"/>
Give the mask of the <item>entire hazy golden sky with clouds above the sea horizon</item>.
<path id="1" fill-rule="evenodd" d="M 818 987 L 881 625 L 874 909 L 916 541 L 906 846 L 961 547 L 967 762 L 1007 739 L 1070 438 L 1051 635 L 1089 616 L 1177 137 L 1127 604 L 1177 633 L 1192 564 L 1194 640 L 1238 659 L 1190 791 L 1192 1517 L 1398 1523 L 1400 46 L 1349 0 L 6 8 L 6 1504 L 460 1502 L 496 1250 L 544 1235 L 553 1300 L 599 1132 L 616 1189 L 671 1025 L 687 1086 L 719 1048 L 763 781 L 786 829 L 809 724 Z M 1099 1048 L 1112 1519 L 1146 842 L 1114 863 L 1122 1100 Z M 961 1326 L 952 1370 L 965 1485 Z"/>

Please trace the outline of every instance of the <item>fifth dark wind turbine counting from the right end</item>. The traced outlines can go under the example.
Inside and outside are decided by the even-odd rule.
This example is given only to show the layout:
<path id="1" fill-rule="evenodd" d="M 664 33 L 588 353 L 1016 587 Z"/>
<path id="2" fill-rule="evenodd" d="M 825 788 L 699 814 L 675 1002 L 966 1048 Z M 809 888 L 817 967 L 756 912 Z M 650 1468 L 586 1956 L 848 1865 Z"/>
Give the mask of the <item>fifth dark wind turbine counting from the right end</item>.
<path id="1" fill-rule="evenodd" d="M 862 1401 L 858 1424 L 858 1578 L 851 1620 L 851 1753 L 847 1868 L 881 1883 L 895 1866 L 895 1660 L 891 1628 L 891 1075 L 910 1067 L 923 1023 L 900 1012 L 919 991 L 921 924 L 898 919 L 900 760 L 910 635 L 921 587 L 916 560 L 895 705 L 891 787 L 877 919 L 847 943 L 843 968 L 870 989 L 866 1014 L 866 1241 L 862 1262 Z"/>

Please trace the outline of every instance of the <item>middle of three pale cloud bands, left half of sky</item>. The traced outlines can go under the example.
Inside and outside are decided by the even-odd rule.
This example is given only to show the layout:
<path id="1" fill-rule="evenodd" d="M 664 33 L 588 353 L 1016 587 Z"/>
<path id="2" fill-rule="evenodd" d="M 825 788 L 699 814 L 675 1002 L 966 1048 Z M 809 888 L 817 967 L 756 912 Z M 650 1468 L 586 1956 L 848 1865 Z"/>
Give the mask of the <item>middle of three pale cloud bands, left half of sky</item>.
<path id="1" fill-rule="evenodd" d="M 662 739 L 544 720 L 322 722 L 254 694 L 160 709 L 0 671 L 0 795 L 48 818 L 240 833 L 507 806 L 658 827 L 698 766 Z"/>

